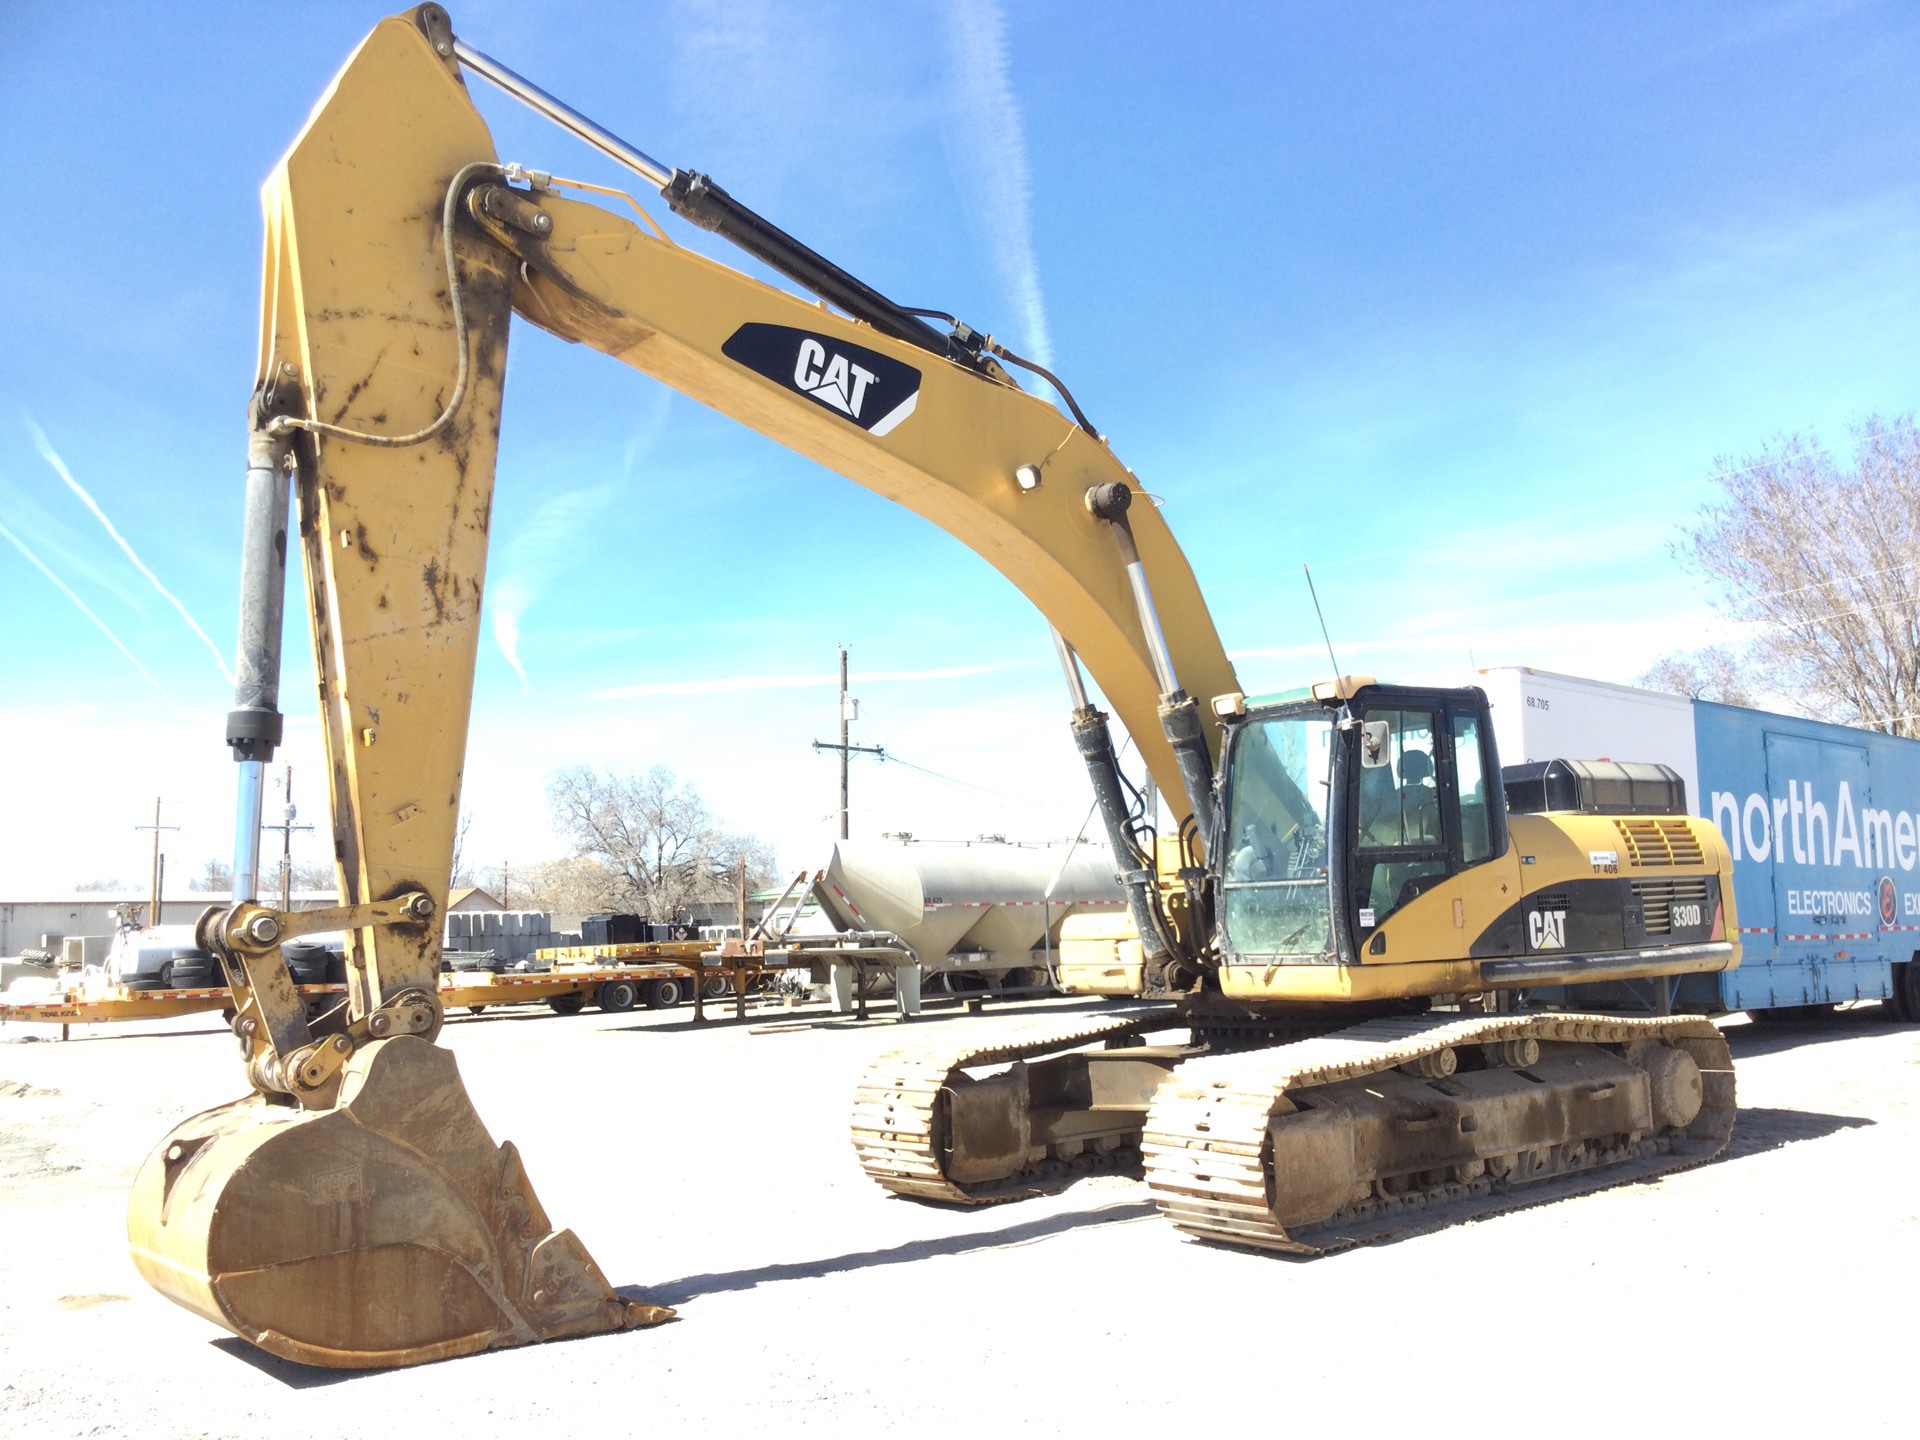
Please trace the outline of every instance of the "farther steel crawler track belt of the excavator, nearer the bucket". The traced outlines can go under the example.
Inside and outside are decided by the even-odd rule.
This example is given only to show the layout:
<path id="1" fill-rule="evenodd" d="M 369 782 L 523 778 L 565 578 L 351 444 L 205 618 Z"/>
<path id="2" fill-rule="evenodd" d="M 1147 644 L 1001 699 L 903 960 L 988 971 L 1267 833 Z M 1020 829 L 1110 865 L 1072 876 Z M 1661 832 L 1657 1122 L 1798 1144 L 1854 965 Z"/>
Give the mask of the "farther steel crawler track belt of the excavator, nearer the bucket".
<path id="1" fill-rule="evenodd" d="M 854 1092 L 852 1148 L 866 1173 L 895 1194 L 956 1206 L 1048 1194 L 1066 1188 L 1091 1169 L 1137 1169 L 1139 1144 L 1123 1142 L 1106 1150 L 1089 1146 L 1073 1158 L 1050 1156 L 1006 1181 L 956 1183 L 947 1177 L 941 1092 L 952 1073 L 968 1066 L 1037 1060 L 1096 1041 L 1121 1041 L 1181 1023 L 1175 1012 L 1160 1010 L 1092 1023 L 1029 1021 L 1014 1031 L 996 1031 L 991 1044 L 902 1046 L 876 1060 Z"/>

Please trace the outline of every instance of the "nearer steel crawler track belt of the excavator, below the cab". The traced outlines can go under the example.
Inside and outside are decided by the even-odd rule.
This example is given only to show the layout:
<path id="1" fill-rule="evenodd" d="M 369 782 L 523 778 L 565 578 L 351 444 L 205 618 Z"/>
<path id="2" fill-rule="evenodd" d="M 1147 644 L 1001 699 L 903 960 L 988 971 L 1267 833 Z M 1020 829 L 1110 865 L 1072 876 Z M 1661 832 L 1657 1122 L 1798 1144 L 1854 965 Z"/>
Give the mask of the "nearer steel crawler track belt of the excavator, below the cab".
<path id="1" fill-rule="evenodd" d="M 1396 1181 L 1373 1185 L 1369 1198 L 1350 1200 L 1296 1233 L 1281 1223 L 1281 1213 L 1292 1213 L 1288 1185 L 1308 1179 L 1327 1185 L 1325 1177 L 1275 1175 L 1269 1123 L 1311 1108 L 1311 1102 L 1294 1106 L 1290 1096 L 1417 1066 L 1421 1056 L 1448 1048 L 1526 1041 L 1613 1046 L 1611 1054 L 1667 1041 L 1699 1068 L 1699 1114 L 1684 1127 L 1653 1125 L 1565 1144 L 1530 1142 L 1515 1158 L 1480 1162 L 1471 1179 L 1453 1171 L 1434 1183 L 1432 1171 L 1421 1171 L 1405 1177 L 1402 1188 L 1392 1188 Z M 1419 1016 L 1375 1020 L 1271 1050 L 1188 1060 L 1154 1096 L 1142 1150 L 1154 1200 L 1188 1235 L 1311 1256 L 1697 1165 L 1726 1148 L 1732 1129 L 1732 1058 L 1726 1041 L 1705 1020 Z M 1367 1190 L 1357 1169 L 1361 1162 L 1352 1162 L 1350 1196 Z"/>

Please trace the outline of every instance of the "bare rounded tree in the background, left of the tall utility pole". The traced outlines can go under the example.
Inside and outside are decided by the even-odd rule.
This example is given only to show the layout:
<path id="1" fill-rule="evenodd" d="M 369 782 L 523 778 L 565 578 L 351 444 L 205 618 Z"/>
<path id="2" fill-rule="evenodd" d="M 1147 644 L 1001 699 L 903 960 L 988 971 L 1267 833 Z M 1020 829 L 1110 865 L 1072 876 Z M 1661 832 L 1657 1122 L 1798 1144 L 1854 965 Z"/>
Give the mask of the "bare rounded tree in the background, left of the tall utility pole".
<path id="1" fill-rule="evenodd" d="M 699 791 L 664 764 L 645 776 L 559 770 L 547 781 L 547 804 L 574 858 L 605 868 L 612 902 L 660 920 L 684 904 L 732 895 L 743 858 L 749 885 L 772 877 L 766 841 L 726 831 Z"/>

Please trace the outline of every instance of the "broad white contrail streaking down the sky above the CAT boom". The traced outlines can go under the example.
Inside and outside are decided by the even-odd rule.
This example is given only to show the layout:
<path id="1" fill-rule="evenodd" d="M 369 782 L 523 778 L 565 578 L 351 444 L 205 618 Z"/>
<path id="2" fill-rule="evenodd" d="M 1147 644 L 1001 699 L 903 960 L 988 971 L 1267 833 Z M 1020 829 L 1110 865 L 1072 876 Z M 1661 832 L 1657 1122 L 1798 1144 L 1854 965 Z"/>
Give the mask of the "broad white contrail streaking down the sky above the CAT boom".
<path id="1" fill-rule="evenodd" d="M 947 127 L 948 157 L 973 194 L 977 221 L 995 273 L 1020 311 L 1025 349 L 1054 363 L 1033 255 L 1033 171 L 1027 134 L 1006 58 L 1006 13 L 998 0 L 952 0 L 947 12 L 954 104 Z"/>

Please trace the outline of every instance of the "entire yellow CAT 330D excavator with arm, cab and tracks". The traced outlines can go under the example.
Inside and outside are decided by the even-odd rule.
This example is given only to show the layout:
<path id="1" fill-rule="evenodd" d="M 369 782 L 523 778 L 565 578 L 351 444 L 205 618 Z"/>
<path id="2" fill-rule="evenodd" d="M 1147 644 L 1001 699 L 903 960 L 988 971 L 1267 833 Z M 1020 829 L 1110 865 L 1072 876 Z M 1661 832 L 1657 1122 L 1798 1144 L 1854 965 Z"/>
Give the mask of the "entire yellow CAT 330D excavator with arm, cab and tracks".
<path id="1" fill-rule="evenodd" d="M 468 77 L 816 300 L 674 244 L 630 196 L 503 165 Z M 670 1313 L 553 1229 L 436 1044 L 515 313 L 927 516 L 1052 624 L 1129 895 L 1125 920 L 1066 937 L 1062 977 L 1139 1004 L 887 1056 L 852 1116 L 881 1185 L 981 1204 L 1142 1164 L 1181 1227 L 1315 1252 L 1726 1144 L 1726 1044 L 1659 1002 L 1667 977 L 1738 962 L 1726 849 L 1670 772 L 1555 762 L 1503 783 L 1478 689 L 1342 676 L 1248 699 L 1160 513 L 1131 505 L 1133 476 L 1052 374 L 647 157 L 440 6 L 367 36 L 263 202 L 234 904 L 200 924 L 253 1094 L 177 1127 L 136 1177 L 132 1258 L 163 1294 L 326 1367 Z M 255 897 L 296 536 L 342 899 L 284 914 Z M 1175 833 L 1123 776 L 1089 674 Z M 348 933 L 349 995 L 313 1018 L 282 947 L 323 929 Z M 1653 1014 L 1515 1000 L 1572 985 L 1651 995 Z"/>

